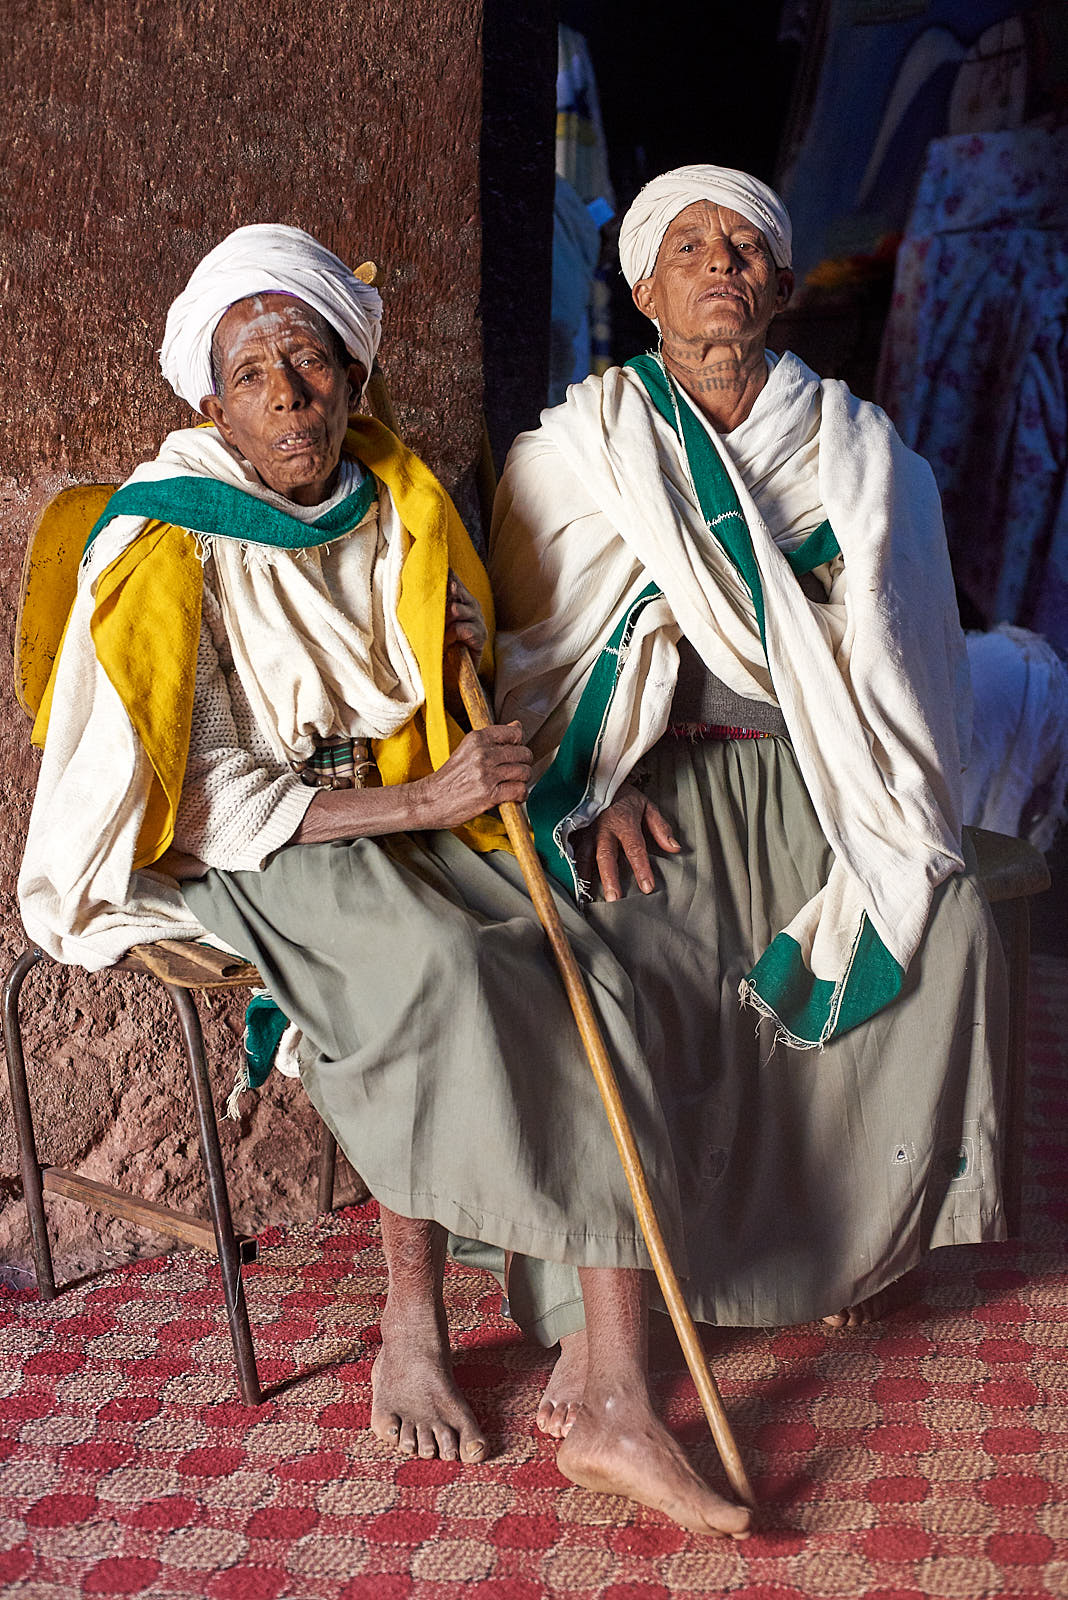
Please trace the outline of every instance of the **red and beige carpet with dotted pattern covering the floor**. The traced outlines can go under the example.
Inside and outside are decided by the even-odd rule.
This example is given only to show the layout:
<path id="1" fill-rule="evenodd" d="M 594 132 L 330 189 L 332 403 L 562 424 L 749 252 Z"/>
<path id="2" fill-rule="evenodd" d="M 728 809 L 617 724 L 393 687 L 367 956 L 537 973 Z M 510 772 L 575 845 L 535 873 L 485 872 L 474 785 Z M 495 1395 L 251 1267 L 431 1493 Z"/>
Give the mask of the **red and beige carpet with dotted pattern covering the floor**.
<path id="1" fill-rule="evenodd" d="M 385 1288 L 371 1205 L 264 1237 L 265 1381 L 235 1400 L 205 1258 L 0 1302 L 0 1594 L 11 1600 L 985 1600 L 1068 1595 L 1068 962 L 1036 958 L 1022 1243 L 940 1251 L 879 1326 L 716 1331 L 763 1502 L 743 1546 L 568 1485 L 531 1426 L 548 1357 L 451 1270 L 483 1467 L 366 1432 Z M 665 1414 L 718 1475 L 689 1379 Z M 286 1379 L 294 1379 L 285 1384 Z"/>

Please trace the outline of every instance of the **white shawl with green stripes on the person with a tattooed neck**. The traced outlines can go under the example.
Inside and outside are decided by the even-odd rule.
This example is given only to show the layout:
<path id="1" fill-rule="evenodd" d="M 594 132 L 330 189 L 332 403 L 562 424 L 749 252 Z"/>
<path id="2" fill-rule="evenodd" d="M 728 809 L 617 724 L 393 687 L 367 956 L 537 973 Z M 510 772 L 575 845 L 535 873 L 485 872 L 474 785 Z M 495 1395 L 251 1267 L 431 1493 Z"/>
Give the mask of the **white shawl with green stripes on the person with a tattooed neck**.
<path id="1" fill-rule="evenodd" d="M 962 867 L 967 664 L 927 464 L 796 357 L 769 390 L 783 451 L 819 419 L 830 528 L 807 563 L 651 358 L 572 387 L 516 440 L 491 558 L 497 704 L 534 742 L 531 818 L 571 886 L 571 834 L 667 725 L 679 634 L 732 690 L 782 707 L 835 866 L 743 997 L 814 1046 L 897 995 L 937 885 Z M 835 539 L 843 573 L 814 603 L 796 574 Z"/>

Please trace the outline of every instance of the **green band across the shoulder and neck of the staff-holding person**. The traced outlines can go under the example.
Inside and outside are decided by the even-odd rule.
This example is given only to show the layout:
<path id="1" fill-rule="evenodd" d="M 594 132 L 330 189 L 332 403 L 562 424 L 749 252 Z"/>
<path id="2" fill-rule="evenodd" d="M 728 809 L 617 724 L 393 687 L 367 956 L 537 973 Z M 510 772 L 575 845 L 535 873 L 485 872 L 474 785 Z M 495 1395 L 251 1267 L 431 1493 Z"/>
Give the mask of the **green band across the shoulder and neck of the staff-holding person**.
<path id="1" fill-rule="evenodd" d="M 329 544 L 363 522 L 376 496 L 374 477 L 366 472 L 360 488 L 317 522 L 301 522 L 277 506 L 219 483 L 217 478 L 160 478 L 157 483 L 126 483 L 115 490 L 104 512 L 93 523 L 88 550 L 112 517 L 145 517 L 197 533 L 240 539 L 241 544 L 270 544 L 278 550 L 310 550 Z"/>

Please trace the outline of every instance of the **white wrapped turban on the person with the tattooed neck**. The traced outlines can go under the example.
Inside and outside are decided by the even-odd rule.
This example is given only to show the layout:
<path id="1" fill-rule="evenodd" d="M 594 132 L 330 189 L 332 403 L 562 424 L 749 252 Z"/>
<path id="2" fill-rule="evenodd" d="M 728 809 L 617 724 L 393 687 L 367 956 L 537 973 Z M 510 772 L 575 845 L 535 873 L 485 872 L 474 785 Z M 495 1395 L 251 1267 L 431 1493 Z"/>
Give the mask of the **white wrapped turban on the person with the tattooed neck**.
<path id="1" fill-rule="evenodd" d="M 774 189 L 732 166 L 676 166 L 640 190 L 619 229 L 619 262 L 632 290 L 651 278 L 668 227 L 687 205 L 711 200 L 759 227 L 777 267 L 790 266 L 790 213 Z"/>

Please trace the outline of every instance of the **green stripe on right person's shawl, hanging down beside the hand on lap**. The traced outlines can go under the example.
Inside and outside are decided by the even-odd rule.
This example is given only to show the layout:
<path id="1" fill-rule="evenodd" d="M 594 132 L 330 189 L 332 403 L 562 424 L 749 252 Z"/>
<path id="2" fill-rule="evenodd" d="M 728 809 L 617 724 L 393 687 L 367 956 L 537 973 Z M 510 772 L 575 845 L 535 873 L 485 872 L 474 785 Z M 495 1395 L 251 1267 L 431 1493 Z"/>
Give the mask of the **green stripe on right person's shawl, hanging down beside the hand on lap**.
<path id="1" fill-rule="evenodd" d="M 659 600 L 660 595 L 660 589 L 649 584 L 617 624 L 608 645 L 593 662 L 593 672 L 552 765 L 545 768 L 526 800 L 534 845 L 545 862 L 545 870 L 576 898 L 579 894 L 577 874 L 563 848 L 558 830 L 561 822 L 572 811 L 577 811 L 587 797 L 627 645 L 640 614 L 651 600 Z"/>

